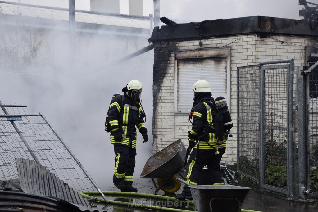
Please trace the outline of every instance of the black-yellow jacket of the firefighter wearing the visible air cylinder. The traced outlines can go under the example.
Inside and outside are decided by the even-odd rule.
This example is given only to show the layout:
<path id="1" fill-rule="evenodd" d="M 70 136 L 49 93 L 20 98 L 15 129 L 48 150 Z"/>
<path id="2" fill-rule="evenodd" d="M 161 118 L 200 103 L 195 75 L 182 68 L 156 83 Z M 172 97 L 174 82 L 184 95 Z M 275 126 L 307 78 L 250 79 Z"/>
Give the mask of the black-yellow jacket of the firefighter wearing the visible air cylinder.
<path id="1" fill-rule="evenodd" d="M 197 148 L 197 146 L 199 146 L 199 150 L 211 150 L 213 147 L 215 149 L 226 147 L 225 142 L 221 145 L 215 142 L 213 110 L 207 103 L 211 100 L 214 101 L 212 97 L 199 100 L 197 105 L 193 108 L 192 128 L 188 135 L 188 139 L 191 141 L 199 140 L 199 144 L 194 147 Z"/>

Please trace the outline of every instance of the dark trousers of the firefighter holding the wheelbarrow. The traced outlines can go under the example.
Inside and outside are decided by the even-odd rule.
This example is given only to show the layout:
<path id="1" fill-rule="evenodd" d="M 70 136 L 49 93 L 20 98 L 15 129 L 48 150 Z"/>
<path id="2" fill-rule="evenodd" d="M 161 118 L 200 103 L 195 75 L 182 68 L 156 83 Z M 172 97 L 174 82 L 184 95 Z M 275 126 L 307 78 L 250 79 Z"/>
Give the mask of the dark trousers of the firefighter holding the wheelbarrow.
<path id="1" fill-rule="evenodd" d="M 219 154 L 215 154 L 215 150 L 198 150 L 193 149 L 189 158 L 189 168 L 187 174 L 187 182 L 197 185 L 199 172 L 207 166 L 208 173 L 212 184 L 222 183 L 223 173 L 220 169 L 220 162 L 222 155 L 225 153 L 226 148 L 220 148 Z"/>

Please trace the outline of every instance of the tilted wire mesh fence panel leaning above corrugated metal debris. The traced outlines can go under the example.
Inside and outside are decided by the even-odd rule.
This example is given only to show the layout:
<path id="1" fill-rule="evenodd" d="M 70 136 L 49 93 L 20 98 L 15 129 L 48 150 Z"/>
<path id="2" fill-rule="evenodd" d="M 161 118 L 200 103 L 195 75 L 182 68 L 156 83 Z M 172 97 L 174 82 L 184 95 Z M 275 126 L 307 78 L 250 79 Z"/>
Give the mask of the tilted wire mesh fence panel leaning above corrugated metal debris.
<path id="1" fill-rule="evenodd" d="M 28 158 L 38 161 L 76 191 L 94 190 L 92 181 L 43 115 L 25 116 L 23 107 L 3 108 L 16 117 L 0 110 L 1 184 L 18 178 L 15 159 Z"/>

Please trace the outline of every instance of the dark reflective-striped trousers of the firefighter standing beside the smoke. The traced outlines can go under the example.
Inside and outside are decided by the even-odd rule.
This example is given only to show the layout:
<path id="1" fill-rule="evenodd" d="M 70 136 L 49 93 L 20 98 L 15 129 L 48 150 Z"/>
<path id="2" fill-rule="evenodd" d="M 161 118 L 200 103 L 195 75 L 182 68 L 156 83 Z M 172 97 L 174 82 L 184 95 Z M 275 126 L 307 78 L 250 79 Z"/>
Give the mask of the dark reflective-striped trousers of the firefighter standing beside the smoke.
<path id="1" fill-rule="evenodd" d="M 133 184 L 133 175 L 136 164 L 136 148 L 114 144 L 115 168 L 114 184 L 123 181 L 124 184 Z"/>

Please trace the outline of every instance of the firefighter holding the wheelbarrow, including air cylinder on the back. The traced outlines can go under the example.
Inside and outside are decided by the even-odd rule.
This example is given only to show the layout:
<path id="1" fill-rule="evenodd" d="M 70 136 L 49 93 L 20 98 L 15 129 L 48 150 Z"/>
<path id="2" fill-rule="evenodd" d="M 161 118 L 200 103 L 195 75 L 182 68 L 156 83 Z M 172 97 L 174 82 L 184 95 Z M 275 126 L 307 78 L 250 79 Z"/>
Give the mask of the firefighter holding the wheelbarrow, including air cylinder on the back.
<path id="1" fill-rule="evenodd" d="M 189 158 L 186 182 L 197 185 L 199 171 L 207 166 L 213 185 L 224 185 L 220 161 L 225 153 L 226 142 L 232 119 L 223 97 L 212 98 L 207 81 L 198 80 L 193 85 L 194 102 L 189 118 L 192 128 L 188 133 L 189 148 L 193 148 Z M 191 122 L 191 121 L 190 121 Z M 192 199 L 189 186 L 184 185 L 177 199 Z"/>

